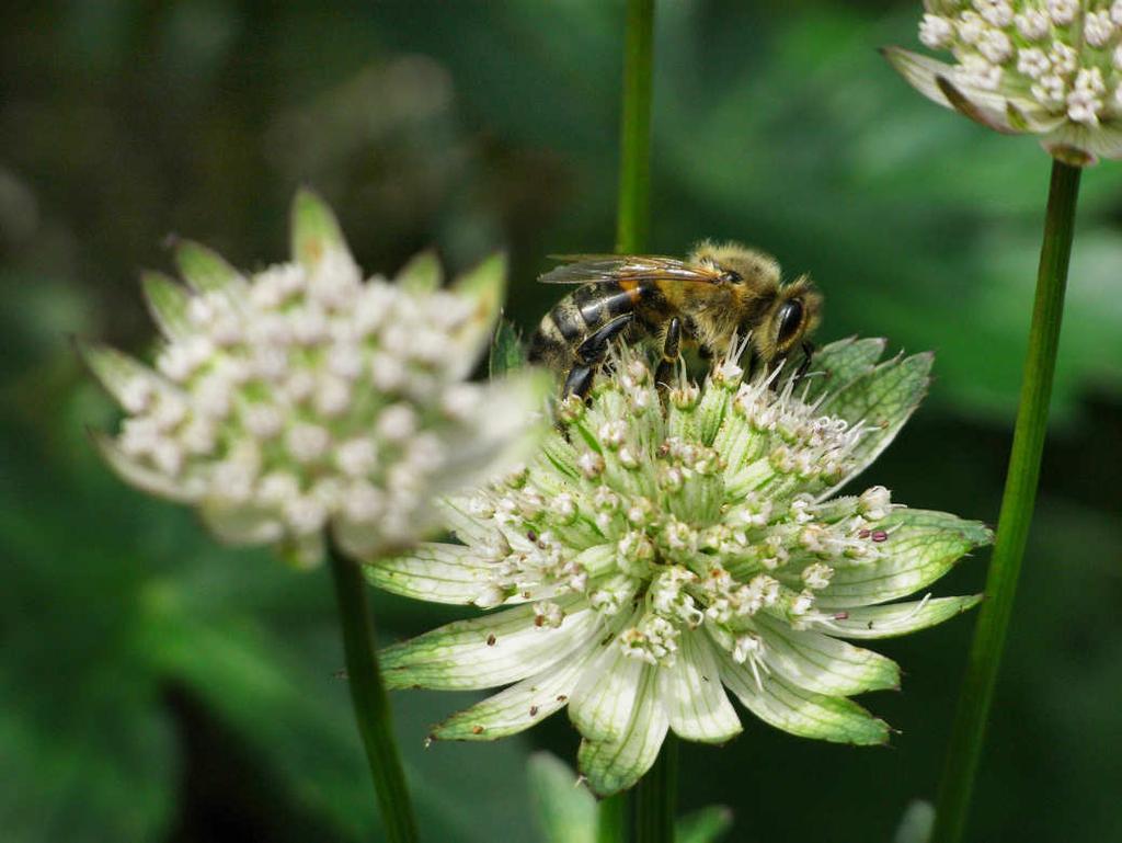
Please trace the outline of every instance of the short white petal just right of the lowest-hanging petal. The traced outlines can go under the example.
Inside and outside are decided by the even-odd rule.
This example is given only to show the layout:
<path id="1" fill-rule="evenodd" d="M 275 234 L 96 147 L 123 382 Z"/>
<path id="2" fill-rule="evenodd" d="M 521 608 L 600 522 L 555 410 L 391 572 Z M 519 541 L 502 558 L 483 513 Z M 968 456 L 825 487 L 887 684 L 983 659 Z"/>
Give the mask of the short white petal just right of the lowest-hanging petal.
<path id="1" fill-rule="evenodd" d="M 678 639 L 674 663 L 659 670 L 659 697 L 670 727 L 688 741 L 724 743 L 743 731 L 702 630 L 687 630 Z"/>

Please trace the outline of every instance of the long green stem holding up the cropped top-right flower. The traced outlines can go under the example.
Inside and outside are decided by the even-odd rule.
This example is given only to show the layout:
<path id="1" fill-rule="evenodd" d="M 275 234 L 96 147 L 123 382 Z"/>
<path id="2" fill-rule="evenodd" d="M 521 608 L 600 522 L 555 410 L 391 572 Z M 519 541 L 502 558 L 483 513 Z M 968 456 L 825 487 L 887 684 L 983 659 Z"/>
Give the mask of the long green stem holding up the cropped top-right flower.
<path id="1" fill-rule="evenodd" d="M 1037 273 L 1037 297 L 1029 329 L 1029 350 L 1024 359 L 1024 378 L 1005 477 L 1005 494 L 1001 502 L 997 538 L 986 580 L 986 599 L 978 614 L 966 678 L 958 698 L 958 711 L 939 790 L 932 843 L 958 843 L 966 827 L 986 720 L 993 703 L 994 684 L 1037 498 L 1080 173 L 1078 167 L 1052 162 L 1040 268 Z"/>

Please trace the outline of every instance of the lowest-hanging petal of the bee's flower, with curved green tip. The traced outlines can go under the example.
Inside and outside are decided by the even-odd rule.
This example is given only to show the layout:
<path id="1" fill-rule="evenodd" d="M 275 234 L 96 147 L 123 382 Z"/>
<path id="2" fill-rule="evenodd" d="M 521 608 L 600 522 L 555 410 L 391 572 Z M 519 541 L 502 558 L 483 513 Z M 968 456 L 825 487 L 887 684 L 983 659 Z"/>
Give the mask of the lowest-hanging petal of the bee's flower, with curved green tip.
<path id="1" fill-rule="evenodd" d="M 611 796 L 632 787 L 651 769 L 666 737 L 670 720 L 656 691 L 659 668 L 644 665 L 631 722 L 615 740 L 586 737 L 577 754 L 580 772 L 599 796 Z"/>

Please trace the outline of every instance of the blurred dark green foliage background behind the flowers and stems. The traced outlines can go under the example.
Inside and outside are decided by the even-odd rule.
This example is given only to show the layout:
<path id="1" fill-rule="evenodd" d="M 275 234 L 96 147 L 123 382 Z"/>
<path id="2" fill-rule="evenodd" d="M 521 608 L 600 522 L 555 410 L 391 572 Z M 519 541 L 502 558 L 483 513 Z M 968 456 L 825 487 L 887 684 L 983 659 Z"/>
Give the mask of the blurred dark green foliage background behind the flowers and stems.
<path id="1" fill-rule="evenodd" d="M 169 233 L 254 268 L 284 256 L 294 189 L 335 207 L 361 264 L 435 245 L 513 260 L 509 314 L 557 292 L 545 255 L 610 249 L 619 2 L 73 0 L 0 28 L 0 836 L 369 840 L 377 819 L 323 571 L 230 551 L 118 483 L 88 445 L 113 410 L 67 335 L 142 352 L 137 271 Z M 875 48 L 919 2 L 663 0 L 651 247 L 738 238 L 810 272 L 822 340 L 935 349 L 937 381 L 870 479 L 993 521 L 1026 345 L 1048 158 L 922 100 Z M 1122 840 L 1122 167 L 1084 178 L 1055 425 L 971 839 Z M 988 553 L 939 586 L 980 589 Z M 376 597 L 384 640 L 449 618 Z M 736 841 L 889 841 L 934 795 L 972 617 L 883 648 L 863 702 L 888 750 L 746 720 L 682 750 L 683 809 Z M 563 716 L 423 749 L 472 695 L 403 694 L 432 841 L 534 841 L 525 762 L 571 761 Z"/>

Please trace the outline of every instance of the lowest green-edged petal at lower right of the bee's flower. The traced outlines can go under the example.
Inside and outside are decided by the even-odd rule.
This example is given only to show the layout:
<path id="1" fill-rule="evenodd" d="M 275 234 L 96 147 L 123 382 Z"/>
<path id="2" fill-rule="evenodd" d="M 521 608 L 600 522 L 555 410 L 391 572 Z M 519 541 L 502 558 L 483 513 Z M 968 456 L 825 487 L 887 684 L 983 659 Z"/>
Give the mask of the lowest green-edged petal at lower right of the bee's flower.
<path id="1" fill-rule="evenodd" d="M 744 707 L 764 723 L 802 737 L 835 743 L 875 744 L 889 740 L 889 725 L 845 697 L 813 694 L 781 677 L 752 671 L 721 656 L 721 677 Z"/>

